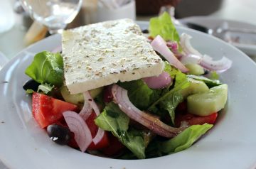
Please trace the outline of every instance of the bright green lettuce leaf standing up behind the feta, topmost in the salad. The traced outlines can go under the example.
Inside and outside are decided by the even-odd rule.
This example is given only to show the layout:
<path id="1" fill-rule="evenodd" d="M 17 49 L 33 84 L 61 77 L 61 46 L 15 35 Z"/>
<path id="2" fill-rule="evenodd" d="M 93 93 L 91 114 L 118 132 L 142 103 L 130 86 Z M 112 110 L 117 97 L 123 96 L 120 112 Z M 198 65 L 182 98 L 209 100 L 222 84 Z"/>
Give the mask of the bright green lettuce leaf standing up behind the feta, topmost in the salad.
<path id="1" fill-rule="evenodd" d="M 167 12 L 164 12 L 159 17 L 150 19 L 149 32 L 150 36 L 154 38 L 160 35 L 164 40 L 179 42 L 178 32 L 171 21 L 171 16 Z"/>

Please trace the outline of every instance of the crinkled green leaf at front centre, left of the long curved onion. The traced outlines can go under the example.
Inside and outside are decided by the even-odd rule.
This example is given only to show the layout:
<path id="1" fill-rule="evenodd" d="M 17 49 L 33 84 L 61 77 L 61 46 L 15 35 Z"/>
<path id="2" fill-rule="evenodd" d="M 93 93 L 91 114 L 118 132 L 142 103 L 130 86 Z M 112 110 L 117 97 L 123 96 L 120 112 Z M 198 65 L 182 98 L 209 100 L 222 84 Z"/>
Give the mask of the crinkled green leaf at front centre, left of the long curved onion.
<path id="1" fill-rule="evenodd" d="M 105 131 L 111 131 L 137 158 L 145 158 L 146 146 L 142 133 L 128 129 L 129 117 L 116 104 L 107 104 L 95 119 L 95 124 Z"/>

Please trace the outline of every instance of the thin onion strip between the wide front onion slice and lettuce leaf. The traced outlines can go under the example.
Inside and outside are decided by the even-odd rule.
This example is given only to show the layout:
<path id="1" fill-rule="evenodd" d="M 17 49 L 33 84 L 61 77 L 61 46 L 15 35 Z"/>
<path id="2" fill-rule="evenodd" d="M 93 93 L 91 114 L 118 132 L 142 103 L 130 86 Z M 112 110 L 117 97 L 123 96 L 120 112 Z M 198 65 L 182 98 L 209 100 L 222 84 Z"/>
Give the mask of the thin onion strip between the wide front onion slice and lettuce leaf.
<path id="1" fill-rule="evenodd" d="M 85 102 L 88 102 L 90 104 L 90 106 L 92 107 L 92 109 L 95 111 L 95 114 L 97 116 L 99 116 L 100 115 L 100 109 L 99 109 L 99 107 L 97 107 L 97 104 L 95 103 L 94 99 L 90 95 L 90 92 L 87 91 L 87 92 L 84 92 L 83 94 L 84 94 L 84 97 L 85 97 Z M 93 143 L 95 143 L 95 145 L 97 143 L 99 143 L 102 140 L 104 134 L 105 134 L 105 131 L 98 128 L 97 134 L 96 134 L 95 138 L 93 138 Z"/>

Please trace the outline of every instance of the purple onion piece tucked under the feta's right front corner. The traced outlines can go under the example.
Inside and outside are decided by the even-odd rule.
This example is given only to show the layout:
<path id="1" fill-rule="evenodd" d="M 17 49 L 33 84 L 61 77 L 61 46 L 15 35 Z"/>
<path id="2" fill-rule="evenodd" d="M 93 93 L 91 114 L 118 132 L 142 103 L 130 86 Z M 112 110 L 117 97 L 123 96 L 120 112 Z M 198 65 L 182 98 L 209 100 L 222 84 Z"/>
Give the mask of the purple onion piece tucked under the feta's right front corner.
<path id="1" fill-rule="evenodd" d="M 167 87 L 172 82 L 168 72 L 162 72 L 159 76 L 145 77 L 142 80 L 151 89 L 162 89 Z"/>

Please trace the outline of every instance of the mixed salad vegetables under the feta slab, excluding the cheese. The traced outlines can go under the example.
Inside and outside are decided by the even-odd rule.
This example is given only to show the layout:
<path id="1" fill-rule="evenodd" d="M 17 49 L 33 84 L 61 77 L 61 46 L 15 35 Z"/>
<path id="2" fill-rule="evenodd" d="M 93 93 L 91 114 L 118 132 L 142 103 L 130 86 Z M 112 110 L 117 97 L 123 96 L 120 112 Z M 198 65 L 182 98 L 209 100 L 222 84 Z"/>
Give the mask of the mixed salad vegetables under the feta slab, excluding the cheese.
<path id="1" fill-rule="evenodd" d="M 218 74 L 231 60 L 193 48 L 192 37 L 179 35 L 168 13 L 151 18 L 147 37 L 164 60 L 161 75 L 80 94 L 65 86 L 61 53 L 35 55 L 23 89 L 52 141 L 95 156 L 144 159 L 183 151 L 213 127 L 228 97 Z"/>

